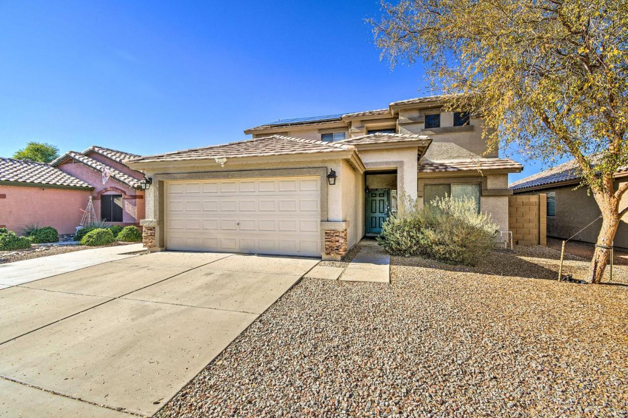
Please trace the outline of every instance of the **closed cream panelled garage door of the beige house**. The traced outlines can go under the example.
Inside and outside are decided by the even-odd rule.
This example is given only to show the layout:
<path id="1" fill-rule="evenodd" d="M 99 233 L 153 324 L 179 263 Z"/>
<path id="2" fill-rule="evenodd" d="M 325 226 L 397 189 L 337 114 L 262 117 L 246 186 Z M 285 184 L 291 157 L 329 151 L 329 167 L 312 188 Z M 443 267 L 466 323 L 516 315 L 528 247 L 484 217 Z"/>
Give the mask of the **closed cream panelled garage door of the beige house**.
<path id="1" fill-rule="evenodd" d="M 320 179 L 166 182 L 166 248 L 320 256 Z"/>

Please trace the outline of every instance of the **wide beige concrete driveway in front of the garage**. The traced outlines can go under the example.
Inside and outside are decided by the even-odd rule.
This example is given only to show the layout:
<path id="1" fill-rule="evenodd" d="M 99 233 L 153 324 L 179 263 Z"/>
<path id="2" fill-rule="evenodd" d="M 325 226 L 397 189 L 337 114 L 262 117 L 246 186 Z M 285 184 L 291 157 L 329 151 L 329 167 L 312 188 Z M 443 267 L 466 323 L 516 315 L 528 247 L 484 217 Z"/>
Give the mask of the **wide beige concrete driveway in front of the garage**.
<path id="1" fill-rule="evenodd" d="M 0 290 L 0 415 L 152 415 L 318 260 L 159 252 Z"/>

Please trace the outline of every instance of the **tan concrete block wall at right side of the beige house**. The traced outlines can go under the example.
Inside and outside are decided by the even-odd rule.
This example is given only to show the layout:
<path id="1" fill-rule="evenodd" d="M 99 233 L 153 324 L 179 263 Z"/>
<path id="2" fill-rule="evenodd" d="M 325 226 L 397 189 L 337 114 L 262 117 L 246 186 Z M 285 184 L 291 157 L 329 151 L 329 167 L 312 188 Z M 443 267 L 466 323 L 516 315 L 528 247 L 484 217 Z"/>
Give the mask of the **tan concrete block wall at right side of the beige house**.
<path id="1" fill-rule="evenodd" d="M 514 244 L 547 244 L 546 199 L 545 194 L 509 196 L 509 230 Z"/>

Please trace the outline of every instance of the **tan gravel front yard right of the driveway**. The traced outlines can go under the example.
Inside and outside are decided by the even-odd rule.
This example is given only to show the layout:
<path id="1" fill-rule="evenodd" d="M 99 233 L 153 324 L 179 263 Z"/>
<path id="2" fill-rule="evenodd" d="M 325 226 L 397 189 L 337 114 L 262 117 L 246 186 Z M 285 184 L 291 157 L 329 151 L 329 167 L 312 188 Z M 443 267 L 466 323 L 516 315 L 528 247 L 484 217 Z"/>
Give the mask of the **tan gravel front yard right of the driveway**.
<path id="1" fill-rule="evenodd" d="M 158 416 L 625 417 L 627 267 L 615 286 L 558 283 L 558 255 L 392 257 L 390 285 L 303 279 Z"/>

